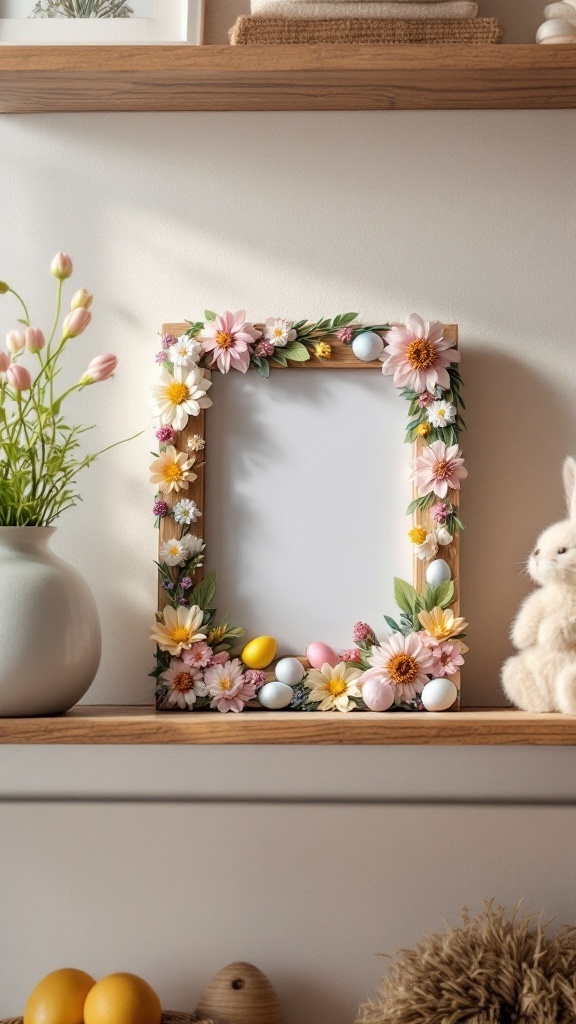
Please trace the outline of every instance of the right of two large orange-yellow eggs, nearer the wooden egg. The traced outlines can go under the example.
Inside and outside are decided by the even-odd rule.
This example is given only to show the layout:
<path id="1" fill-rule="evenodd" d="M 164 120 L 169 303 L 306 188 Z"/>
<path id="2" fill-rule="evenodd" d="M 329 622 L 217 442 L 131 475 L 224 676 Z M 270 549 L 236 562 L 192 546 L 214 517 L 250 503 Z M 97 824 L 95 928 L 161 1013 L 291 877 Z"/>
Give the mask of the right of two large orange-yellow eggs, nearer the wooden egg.
<path id="1" fill-rule="evenodd" d="M 161 1024 L 156 992 L 135 974 L 110 974 L 90 990 L 84 1024 Z"/>

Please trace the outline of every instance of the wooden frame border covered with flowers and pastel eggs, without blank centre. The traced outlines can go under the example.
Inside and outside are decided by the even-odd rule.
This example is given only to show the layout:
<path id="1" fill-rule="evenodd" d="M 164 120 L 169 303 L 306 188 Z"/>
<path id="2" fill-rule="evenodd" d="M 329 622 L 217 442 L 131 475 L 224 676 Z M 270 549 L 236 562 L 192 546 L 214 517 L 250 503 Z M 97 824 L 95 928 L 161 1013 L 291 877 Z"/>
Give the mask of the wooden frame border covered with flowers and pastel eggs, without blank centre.
<path id="1" fill-rule="evenodd" d="M 365 325 L 358 313 L 298 322 L 246 313 L 163 328 L 152 386 L 159 452 L 151 465 L 159 528 L 156 644 L 158 711 L 349 712 L 447 711 L 460 702 L 467 623 L 459 614 L 459 447 L 462 379 L 455 325 Z M 358 622 L 353 646 L 312 643 L 283 652 L 273 637 L 246 643 L 243 629 L 218 620 L 217 572 L 203 573 L 206 415 L 212 373 L 372 370 L 392 376 L 408 402 L 405 441 L 412 445 L 414 495 L 407 509 L 414 579 L 396 579 L 396 614 L 377 639 Z M 210 416 L 217 415 L 214 410 Z M 400 441 L 400 430 L 399 430 Z M 209 510 L 208 510 L 209 514 Z M 390 582 L 390 592 L 393 590 Z"/>

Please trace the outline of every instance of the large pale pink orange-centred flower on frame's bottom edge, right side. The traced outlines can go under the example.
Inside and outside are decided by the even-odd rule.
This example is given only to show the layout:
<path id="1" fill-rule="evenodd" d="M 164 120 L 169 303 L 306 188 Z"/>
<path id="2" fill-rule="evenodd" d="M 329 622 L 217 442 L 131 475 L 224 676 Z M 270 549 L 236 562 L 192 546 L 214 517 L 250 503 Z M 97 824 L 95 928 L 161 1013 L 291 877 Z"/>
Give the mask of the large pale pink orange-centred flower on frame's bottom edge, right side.
<path id="1" fill-rule="evenodd" d="M 361 685 L 379 680 L 394 687 L 394 702 L 413 700 L 422 692 L 431 668 L 431 655 L 417 633 L 393 633 L 368 658 L 371 666 L 361 678 Z"/>

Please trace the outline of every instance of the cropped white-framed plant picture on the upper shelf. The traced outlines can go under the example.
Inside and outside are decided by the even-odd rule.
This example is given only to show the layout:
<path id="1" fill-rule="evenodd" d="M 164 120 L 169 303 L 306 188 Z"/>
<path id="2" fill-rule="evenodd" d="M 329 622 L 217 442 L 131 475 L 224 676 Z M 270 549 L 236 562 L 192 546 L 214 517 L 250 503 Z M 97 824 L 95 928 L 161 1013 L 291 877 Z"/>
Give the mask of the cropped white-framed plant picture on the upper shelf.
<path id="1" fill-rule="evenodd" d="M 0 0 L 0 45 L 148 46 L 203 42 L 204 0 L 125 0 L 122 6 L 119 4 L 120 0 Z M 98 10 L 100 15 L 84 13 Z M 124 13 L 111 16 L 111 10 Z"/>

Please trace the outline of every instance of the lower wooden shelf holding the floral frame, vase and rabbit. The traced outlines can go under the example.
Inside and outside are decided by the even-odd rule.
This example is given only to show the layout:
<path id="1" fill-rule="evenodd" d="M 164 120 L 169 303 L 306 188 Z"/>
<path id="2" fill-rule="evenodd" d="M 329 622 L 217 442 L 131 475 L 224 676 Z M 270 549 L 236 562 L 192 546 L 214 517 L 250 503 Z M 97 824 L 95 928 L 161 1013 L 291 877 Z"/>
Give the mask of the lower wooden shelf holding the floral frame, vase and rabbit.
<path id="1" fill-rule="evenodd" d="M 576 744 L 576 718 L 530 715 L 506 709 L 442 715 L 369 712 L 216 715 L 86 707 L 56 718 L 0 719 L 0 743 L 572 746 Z"/>

